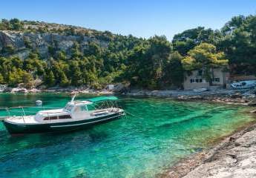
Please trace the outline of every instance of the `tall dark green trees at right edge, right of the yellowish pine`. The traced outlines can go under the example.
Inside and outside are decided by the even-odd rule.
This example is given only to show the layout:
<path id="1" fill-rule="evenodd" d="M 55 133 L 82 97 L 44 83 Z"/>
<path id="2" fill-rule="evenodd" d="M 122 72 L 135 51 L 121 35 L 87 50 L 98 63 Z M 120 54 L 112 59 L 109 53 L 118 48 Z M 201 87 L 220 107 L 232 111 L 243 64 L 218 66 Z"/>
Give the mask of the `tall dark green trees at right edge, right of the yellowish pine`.
<path id="1" fill-rule="evenodd" d="M 255 74 L 256 16 L 235 16 L 222 29 L 218 48 L 226 53 L 233 73 Z"/>

